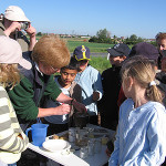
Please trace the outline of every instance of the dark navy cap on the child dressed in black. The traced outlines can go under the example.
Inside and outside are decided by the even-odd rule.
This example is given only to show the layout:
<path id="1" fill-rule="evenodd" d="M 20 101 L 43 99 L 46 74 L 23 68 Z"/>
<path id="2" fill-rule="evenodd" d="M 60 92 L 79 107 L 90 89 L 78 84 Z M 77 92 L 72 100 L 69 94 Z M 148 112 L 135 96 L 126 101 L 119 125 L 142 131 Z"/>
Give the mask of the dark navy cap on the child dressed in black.
<path id="1" fill-rule="evenodd" d="M 107 49 L 107 52 L 108 52 L 108 55 L 107 55 L 107 60 L 108 60 L 110 55 L 112 55 L 112 56 L 121 56 L 121 55 L 128 56 L 131 49 L 128 48 L 127 44 L 118 43 L 118 44 L 115 44 L 113 48 Z"/>

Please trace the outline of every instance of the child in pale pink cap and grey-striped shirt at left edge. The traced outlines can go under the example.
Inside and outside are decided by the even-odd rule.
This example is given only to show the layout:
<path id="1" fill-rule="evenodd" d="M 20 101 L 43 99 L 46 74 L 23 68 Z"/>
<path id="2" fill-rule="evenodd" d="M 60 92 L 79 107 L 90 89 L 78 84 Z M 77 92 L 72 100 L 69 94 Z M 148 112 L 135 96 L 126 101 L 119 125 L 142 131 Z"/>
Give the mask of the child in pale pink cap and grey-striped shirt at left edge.
<path id="1" fill-rule="evenodd" d="M 20 159 L 28 147 L 29 139 L 22 132 L 6 87 L 12 89 L 20 82 L 18 64 L 30 69 L 23 60 L 19 43 L 0 35 L 0 166 L 13 164 Z"/>

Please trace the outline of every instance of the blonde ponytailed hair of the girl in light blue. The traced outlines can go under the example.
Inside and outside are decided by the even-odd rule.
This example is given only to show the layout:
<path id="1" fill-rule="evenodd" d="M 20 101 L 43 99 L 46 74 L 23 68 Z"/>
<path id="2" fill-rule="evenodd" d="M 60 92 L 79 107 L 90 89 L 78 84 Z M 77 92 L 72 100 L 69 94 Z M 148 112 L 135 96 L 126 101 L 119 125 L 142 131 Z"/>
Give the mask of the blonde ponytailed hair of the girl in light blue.
<path id="1" fill-rule="evenodd" d="M 122 80 L 133 77 L 145 91 L 148 101 L 162 103 L 163 94 L 156 85 L 149 85 L 155 80 L 155 68 L 147 58 L 137 55 L 125 61 L 121 70 Z"/>

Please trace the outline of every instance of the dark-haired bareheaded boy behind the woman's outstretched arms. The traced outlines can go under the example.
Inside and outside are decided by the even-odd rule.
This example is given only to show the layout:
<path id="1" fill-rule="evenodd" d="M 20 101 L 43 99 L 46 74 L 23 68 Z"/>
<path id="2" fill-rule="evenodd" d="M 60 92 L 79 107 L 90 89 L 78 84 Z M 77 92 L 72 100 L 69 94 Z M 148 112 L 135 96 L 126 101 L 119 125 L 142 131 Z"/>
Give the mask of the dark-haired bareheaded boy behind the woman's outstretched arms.
<path id="1" fill-rule="evenodd" d="M 61 68 L 61 75 L 55 76 L 55 82 L 65 95 L 81 102 L 81 86 L 74 81 L 77 72 L 80 72 L 79 63 L 74 58 L 71 58 L 70 64 Z M 43 101 L 44 107 L 55 107 L 62 104 L 46 97 L 44 97 Z M 66 131 L 69 126 L 73 126 L 73 113 L 74 107 L 72 107 L 70 115 L 65 114 L 44 117 L 44 123 L 49 124 L 48 135 Z"/>

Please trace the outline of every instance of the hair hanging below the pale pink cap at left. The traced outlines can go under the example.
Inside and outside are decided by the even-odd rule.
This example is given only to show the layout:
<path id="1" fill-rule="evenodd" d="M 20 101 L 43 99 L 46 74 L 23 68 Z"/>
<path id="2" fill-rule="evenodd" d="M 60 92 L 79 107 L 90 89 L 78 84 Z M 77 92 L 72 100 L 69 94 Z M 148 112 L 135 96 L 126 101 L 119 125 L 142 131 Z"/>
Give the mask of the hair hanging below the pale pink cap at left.
<path id="1" fill-rule="evenodd" d="M 4 64 L 0 63 L 0 83 L 7 87 L 13 89 L 13 86 L 20 82 L 20 72 L 18 64 Z"/>

